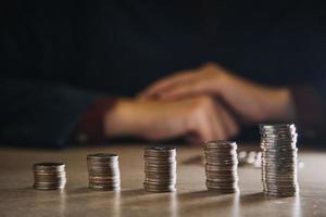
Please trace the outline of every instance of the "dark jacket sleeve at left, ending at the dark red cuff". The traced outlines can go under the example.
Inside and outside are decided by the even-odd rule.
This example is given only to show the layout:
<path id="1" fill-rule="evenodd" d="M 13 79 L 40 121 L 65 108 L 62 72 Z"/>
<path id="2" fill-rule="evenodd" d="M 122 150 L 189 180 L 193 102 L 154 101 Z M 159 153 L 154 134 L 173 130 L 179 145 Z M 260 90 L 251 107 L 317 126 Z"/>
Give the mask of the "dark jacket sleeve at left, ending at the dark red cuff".
<path id="1" fill-rule="evenodd" d="M 63 148 L 97 94 L 65 86 L 0 80 L 1 144 Z"/>

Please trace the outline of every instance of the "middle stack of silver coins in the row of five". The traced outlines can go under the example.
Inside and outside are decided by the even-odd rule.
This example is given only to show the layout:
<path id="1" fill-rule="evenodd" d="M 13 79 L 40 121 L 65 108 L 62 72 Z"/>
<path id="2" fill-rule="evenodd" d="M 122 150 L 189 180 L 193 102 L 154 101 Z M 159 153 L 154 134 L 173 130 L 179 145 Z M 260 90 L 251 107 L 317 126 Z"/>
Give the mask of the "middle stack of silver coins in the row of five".
<path id="1" fill-rule="evenodd" d="M 175 191 L 176 184 L 176 150 L 175 148 L 145 149 L 143 188 L 150 192 Z"/>

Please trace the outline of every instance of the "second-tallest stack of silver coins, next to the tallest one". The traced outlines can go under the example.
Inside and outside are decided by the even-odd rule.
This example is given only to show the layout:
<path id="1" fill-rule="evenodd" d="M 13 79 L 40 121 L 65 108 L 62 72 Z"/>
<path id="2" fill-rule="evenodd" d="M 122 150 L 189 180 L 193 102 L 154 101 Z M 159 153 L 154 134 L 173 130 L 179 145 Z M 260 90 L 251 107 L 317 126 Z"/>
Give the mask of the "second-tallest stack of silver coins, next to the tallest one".
<path id="1" fill-rule="evenodd" d="M 233 141 L 205 143 L 206 188 L 218 193 L 235 193 L 238 188 L 237 144 Z"/>

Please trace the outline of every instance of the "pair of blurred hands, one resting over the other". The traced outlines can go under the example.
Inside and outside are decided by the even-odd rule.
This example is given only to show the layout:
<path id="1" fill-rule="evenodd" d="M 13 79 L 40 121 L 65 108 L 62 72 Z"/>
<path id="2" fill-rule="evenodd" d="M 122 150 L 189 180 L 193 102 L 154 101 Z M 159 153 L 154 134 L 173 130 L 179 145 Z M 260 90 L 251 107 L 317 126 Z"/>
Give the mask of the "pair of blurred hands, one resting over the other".
<path id="1" fill-rule="evenodd" d="M 293 119 L 287 88 L 259 85 L 209 63 L 162 78 L 138 99 L 118 100 L 104 128 L 109 137 L 162 140 L 186 136 L 200 142 L 230 139 L 244 124 Z"/>

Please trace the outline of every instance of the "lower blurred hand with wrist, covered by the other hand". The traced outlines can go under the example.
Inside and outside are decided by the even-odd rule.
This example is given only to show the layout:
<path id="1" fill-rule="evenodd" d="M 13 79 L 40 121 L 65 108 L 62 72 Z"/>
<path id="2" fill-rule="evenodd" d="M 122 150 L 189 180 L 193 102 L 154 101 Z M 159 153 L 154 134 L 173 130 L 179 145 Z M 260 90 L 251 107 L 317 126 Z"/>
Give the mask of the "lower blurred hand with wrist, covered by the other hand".
<path id="1" fill-rule="evenodd" d="M 148 140 L 190 136 L 195 141 L 228 139 L 238 132 L 233 116 L 209 97 L 178 101 L 118 100 L 105 117 L 108 137 Z"/>

